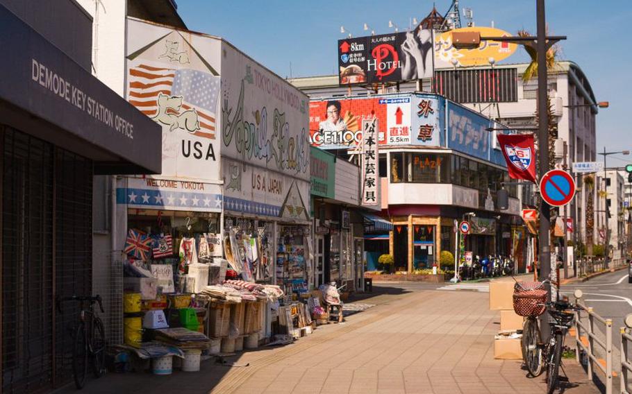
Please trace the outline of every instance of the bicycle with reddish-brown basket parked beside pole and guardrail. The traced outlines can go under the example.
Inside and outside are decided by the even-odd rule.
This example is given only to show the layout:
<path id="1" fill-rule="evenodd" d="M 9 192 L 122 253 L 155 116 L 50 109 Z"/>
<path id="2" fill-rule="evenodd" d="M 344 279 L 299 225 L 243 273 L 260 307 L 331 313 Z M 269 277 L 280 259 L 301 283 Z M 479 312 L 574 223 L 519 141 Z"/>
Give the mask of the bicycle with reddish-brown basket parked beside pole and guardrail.
<path id="1" fill-rule="evenodd" d="M 547 289 L 544 282 L 522 283 L 516 282 L 514 293 L 514 310 L 524 316 L 522 326 L 522 359 L 532 377 L 538 377 L 547 370 L 547 393 L 552 394 L 559 384 L 559 368 L 562 363 L 564 339 L 574 320 L 573 311 L 579 311 L 568 300 L 546 302 Z M 575 297 L 581 298 L 581 291 L 576 291 Z M 570 311 L 569 311 L 570 310 Z M 538 316 L 549 312 L 551 338 L 542 343 Z"/>

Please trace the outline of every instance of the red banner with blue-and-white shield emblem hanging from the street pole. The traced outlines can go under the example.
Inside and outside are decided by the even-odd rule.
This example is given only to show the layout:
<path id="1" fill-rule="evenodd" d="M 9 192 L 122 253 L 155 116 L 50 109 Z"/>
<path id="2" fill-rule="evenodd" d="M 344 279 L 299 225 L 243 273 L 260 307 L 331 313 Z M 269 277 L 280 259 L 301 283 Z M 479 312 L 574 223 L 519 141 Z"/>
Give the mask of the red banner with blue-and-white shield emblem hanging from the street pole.
<path id="1" fill-rule="evenodd" d="M 535 183 L 535 148 L 533 135 L 497 135 L 501 151 L 507 162 L 509 176 Z"/>

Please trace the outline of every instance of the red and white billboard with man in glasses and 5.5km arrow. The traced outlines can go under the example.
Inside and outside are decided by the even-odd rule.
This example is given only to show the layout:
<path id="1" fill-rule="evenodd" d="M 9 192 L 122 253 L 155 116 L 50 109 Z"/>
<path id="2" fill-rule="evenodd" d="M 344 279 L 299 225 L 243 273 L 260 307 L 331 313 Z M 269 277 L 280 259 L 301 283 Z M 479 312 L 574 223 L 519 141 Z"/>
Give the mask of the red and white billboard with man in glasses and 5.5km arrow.
<path id="1" fill-rule="evenodd" d="M 439 146 L 443 103 L 435 95 L 414 94 L 310 101 L 310 142 L 322 149 L 354 148 L 362 141 L 363 121 L 376 119 L 380 145 Z"/>

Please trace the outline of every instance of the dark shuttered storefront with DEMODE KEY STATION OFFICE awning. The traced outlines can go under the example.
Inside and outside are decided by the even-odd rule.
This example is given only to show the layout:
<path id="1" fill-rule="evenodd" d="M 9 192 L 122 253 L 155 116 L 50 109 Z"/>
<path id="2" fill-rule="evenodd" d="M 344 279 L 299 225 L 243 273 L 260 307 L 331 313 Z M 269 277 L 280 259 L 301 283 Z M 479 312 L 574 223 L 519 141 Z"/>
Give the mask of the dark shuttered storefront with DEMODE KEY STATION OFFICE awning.
<path id="1" fill-rule="evenodd" d="M 94 287 L 94 175 L 160 173 L 159 128 L 92 76 L 76 2 L 2 3 L 1 391 L 45 392 L 72 380 L 79 305 L 56 298 Z"/>

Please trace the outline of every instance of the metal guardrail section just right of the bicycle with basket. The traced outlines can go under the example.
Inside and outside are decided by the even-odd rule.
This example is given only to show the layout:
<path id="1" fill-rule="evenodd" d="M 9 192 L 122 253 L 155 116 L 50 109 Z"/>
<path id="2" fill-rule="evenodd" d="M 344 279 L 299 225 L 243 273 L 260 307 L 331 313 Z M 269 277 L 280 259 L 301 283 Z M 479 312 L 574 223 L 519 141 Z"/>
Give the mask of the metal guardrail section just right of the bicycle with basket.
<path id="1" fill-rule="evenodd" d="M 580 362 L 579 351 L 581 350 L 588 357 L 588 366 L 587 366 L 588 379 L 592 381 L 592 372 L 594 371 L 594 366 L 599 367 L 601 372 L 604 372 L 604 375 L 606 375 L 606 382 L 605 382 L 606 394 L 612 394 L 613 393 L 613 320 L 602 318 L 598 314 L 595 314 L 594 311 L 592 310 L 592 307 L 586 307 L 585 305 L 582 305 L 580 303 L 578 303 L 577 306 L 583 311 L 586 311 L 588 313 L 588 326 L 584 325 L 584 323 L 581 322 L 581 319 L 580 319 L 581 312 L 576 311 L 575 322 L 574 322 L 576 361 L 578 363 Z M 605 331 L 606 331 L 605 343 L 604 341 L 599 339 L 597 334 L 594 333 L 595 320 L 603 324 L 605 327 Z M 586 334 L 585 336 L 588 338 L 588 346 L 585 346 L 581 342 L 582 330 L 583 332 L 585 332 Z M 632 339 L 632 336 L 630 337 L 630 339 Z M 594 352 L 595 344 L 601 346 L 601 348 L 604 349 L 604 352 L 606 353 L 606 366 L 601 365 L 601 363 L 599 362 L 599 358 Z"/>

